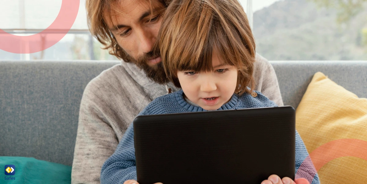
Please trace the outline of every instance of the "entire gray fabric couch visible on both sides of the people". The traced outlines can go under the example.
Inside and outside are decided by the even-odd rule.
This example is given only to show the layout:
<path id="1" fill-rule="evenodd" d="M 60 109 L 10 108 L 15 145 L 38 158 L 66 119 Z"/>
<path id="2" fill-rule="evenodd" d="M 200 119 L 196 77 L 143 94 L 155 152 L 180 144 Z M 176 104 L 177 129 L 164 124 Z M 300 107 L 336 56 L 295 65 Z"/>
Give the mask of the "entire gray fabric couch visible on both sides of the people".
<path id="1" fill-rule="evenodd" d="M 0 61 L 0 156 L 72 165 L 81 96 L 118 61 Z M 273 61 L 285 105 L 297 108 L 320 71 L 367 97 L 366 61 Z"/>

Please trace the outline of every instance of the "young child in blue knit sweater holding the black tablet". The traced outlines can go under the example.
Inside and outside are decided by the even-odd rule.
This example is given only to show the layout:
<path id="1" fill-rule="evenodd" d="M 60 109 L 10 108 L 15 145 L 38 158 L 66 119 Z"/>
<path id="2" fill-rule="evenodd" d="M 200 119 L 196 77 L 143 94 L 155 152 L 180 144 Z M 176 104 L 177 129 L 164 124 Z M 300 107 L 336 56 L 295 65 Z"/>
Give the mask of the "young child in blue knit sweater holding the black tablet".
<path id="1" fill-rule="evenodd" d="M 182 90 L 156 98 L 139 115 L 276 107 L 253 91 L 255 40 L 237 0 L 173 0 L 159 39 L 164 70 Z M 132 181 L 137 179 L 134 151 L 131 124 L 115 153 L 103 164 L 101 183 L 137 183 Z M 307 156 L 296 132 L 296 172 L 300 169 L 302 177 L 317 184 L 312 162 L 302 163 Z M 301 163 L 306 169 L 302 170 Z M 271 177 L 282 183 L 278 176 Z M 270 180 L 263 183 L 278 184 Z"/>

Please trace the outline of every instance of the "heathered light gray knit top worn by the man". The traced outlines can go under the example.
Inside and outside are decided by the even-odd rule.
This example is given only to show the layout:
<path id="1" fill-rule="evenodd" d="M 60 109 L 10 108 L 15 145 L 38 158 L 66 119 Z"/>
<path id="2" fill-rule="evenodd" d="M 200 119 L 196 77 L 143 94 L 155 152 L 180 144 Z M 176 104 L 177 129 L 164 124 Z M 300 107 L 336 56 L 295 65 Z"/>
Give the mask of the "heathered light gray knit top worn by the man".
<path id="1" fill-rule="evenodd" d="M 275 71 L 257 55 L 255 90 L 283 106 Z M 172 92 L 178 89 L 168 83 Z M 142 70 L 121 62 L 88 83 L 81 99 L 72 167 L 72 184 L 99 184 L 101 167 L 116 150 L 127 127 L 166 87 L 149 80 Z"/>

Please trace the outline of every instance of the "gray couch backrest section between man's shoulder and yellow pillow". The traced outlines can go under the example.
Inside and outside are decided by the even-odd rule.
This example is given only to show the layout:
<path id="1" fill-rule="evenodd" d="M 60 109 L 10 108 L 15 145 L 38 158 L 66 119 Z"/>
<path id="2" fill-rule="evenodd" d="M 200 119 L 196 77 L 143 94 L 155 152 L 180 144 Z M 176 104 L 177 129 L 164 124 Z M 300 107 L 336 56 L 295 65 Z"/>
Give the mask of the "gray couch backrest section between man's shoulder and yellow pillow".
<path id="1" fill-rule="evenodd" d="M 298 107 L 316 72 L 323 72 L 335 83 L 367 98 L 367 61 L 272 61 L 284 105 Z"/>

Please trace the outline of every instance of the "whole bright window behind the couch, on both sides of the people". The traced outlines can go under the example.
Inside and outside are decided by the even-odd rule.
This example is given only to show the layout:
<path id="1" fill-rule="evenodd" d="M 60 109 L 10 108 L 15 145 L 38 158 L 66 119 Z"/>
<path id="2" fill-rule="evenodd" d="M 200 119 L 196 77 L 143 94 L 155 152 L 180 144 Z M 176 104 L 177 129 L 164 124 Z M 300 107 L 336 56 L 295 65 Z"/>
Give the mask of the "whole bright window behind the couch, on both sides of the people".
<path id="1" fill-rule="evenodd" d="M 367 0 L 239 0 L 247 13 L 257 53 L 268 60 L 366 60 Z M 20 36 L 47 28 L 62 0 L 0 0 L 0 28 Z M 0 33 L 1 39 L 1 33 Z M 45 38 L 47 40 L 47 38 Z M 85 0 L 68 34 L 44 51 L 1 60 L 116 59 L 87 27 Z"/>

